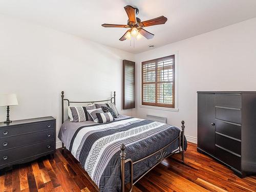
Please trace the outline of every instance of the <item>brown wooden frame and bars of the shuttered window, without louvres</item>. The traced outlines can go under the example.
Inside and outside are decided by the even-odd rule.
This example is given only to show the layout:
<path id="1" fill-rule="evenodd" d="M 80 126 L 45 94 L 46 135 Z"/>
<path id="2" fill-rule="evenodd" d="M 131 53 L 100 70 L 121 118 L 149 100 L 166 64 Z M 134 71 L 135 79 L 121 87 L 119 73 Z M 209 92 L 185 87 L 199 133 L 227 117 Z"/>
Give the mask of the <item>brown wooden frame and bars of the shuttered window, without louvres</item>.
<path id="1" fill-rule="evenodd" d="M 147 60 L 147 61 L 143 61 L 141 62 L 141 104 L 142 104 L 142 107 L 147 107 L 147 106 L 150 106 L 150 107 L 156 107 L 156 108 L 165 108 L 165 109 L 170 109 L 170 110 L 176 110 L 175 107 L 177 106 L 176 105 L 176 72 L 177 72 L 177 62 L 176 62 L 176 58 L 177 55 L 176 54 L 172 54 L 172 55 L 168 55 L 168 56 L 165 56 L 165 57 L 160 57 L 160 58 L 157 58 L 157 59 L 151 59 L 151 60 Z M 173 103 L 172 104 L 167 104 L 167 103 L 158 103 L 158 98 L 157 98 L 157 91 L 158 91 L 158 62 L 162 62 L 168 58 L 172 58 L 173 59 L 173 62 L 174 62 L 174 65 L 172 67 L 173 69 L 173 90 L 172 90 L 172 95 L 173 95 Z M 144 76 L 143 76 L 143 66 L 144 65 L 147 65 L 149 63 L 155 63 L 155 81 L 152 82 L 152 84 L 155 84 L 155 102 L 144 102 L 143 101 L 143 85 L 144 84 L 151 84 L 151 83 L 144 83 L 143 80 L 144 80 Z"/>

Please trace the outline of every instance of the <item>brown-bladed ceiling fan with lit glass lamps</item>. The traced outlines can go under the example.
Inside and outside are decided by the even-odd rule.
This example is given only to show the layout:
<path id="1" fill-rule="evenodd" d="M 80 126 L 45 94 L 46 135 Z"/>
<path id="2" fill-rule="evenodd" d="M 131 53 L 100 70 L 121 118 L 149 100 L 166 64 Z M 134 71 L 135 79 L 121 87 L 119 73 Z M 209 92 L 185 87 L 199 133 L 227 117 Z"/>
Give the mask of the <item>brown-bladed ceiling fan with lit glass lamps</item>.
<path id="1" fill-rule="evenodd" d="M 124 10 L 127 13 L 128 20 L 127 25 L 115 25 L 115 24 L 102 24 L 102 27 L 118 27 L 118 28 L 130 28 L 127 30 L 124 35 L 119 39 L 121 41 L 126 39 L 131 39 L 131 36 L 140 38 L 140 35 L 146 37 L 147 39 L 152 39 L 154 34 L 146 31 L 143 27 L 154 26 L 154 25 L 161 25 L 165 24 L 167 18 L 164 16 L 160 16 L 157 18 L 153 18 L 150 20 L 145 20 L 141 22 L 140 18 L 136 17 L 139 13 L 138 8 L 134 8 L 130 5 L 124 7 Z"/>

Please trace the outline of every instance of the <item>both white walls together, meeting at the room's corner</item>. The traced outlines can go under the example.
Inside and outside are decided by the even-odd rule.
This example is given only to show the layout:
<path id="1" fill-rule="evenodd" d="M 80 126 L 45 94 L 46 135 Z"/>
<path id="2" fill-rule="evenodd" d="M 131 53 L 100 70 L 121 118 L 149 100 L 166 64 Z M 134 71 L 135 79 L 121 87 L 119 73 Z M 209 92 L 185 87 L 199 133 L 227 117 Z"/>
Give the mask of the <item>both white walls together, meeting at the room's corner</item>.
<path id="1" fill-rule="evenodd" d="M 196 142 L 197 91 L 256 90 L 255 34 L 253 18 L 134 55 L 0 15 L 0 94 L 17 94 L 19 105 L 11 106 L 12 120 L 53 116 L 58 133 L 62 90 L 74 100 L 110 98 L 117 91 L 120 110 L 121 60 L 136 60 L 136 109 L 121 113 L 163 116 L 179 127 L 185 120 L 185 134 Z M 141 61 L 177 51 L 179 111 L 140 108 Z M 6 109 L 1 107 L 0 121 L 5 118 Z"/>

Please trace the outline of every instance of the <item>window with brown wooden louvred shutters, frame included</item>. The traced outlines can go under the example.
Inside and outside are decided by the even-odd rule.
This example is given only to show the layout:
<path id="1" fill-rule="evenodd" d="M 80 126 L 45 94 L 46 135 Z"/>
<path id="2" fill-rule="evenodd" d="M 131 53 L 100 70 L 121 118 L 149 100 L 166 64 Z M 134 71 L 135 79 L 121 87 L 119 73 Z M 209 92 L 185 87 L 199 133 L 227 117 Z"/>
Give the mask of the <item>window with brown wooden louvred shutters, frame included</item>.
<path id="1" fill-rule="evenodd" d="M 175 108 L 175 56 L 142 62 L 142 105 Z"/>

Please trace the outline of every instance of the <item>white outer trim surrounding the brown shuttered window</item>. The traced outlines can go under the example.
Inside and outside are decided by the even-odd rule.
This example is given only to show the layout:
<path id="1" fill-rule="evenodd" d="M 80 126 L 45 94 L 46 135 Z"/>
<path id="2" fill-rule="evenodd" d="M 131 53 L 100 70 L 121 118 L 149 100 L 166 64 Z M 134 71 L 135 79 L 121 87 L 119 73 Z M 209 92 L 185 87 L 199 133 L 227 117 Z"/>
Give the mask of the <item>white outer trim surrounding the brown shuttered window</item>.
<path id="1" fill-rule="evenodd" d="M 175 71 L 175 74 L 174 74 L 174 106 L 173 107 L 160 106 L 161 104 L 156 106 L 155 103 L 143 102 L 143 64 L 145 65 L 146 64 L 145 62 L 150 63 L 150 62 L 156 61 L 156 60 L 159 62 L 159 61 L 161 61 L 160 59 L 164 59 L 166 57 L 169 57 L 169 56 L 160 55 L 160 57 L 158 59 L 151 59 L 151 60 L 146 60 L 146 61 L 141 62 L 141 66 L 140 66 L 140 70 L 141 70 L 141 73 L 140 73 L 140 75 L 141 75 L 141 77 L 140 77 L 140 80 L 141 80 L 141 83 L 140 83 L 141 84 L 141 88 L 140 88 L 141 94 L 140 94 L 140 96 L 141 96 L 141 99 L 140 99 L 140 105 L 139 105 L 140 108 L 163 110 L 163 111 L 174 111 L 174 112 L 179 111 L 179 108 L 178 108 L 178 51 L 176 51 L 172 54 L 168 54 L 168 55 L 169 56 L 174 55 L 174 63 L 175 63 L 175 66 L 174 66 L 174 71 Z M 155 82 L 155 83 L 157 83 L 157 82 Z"/>

